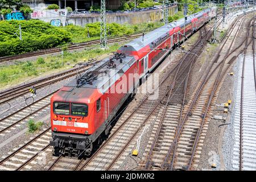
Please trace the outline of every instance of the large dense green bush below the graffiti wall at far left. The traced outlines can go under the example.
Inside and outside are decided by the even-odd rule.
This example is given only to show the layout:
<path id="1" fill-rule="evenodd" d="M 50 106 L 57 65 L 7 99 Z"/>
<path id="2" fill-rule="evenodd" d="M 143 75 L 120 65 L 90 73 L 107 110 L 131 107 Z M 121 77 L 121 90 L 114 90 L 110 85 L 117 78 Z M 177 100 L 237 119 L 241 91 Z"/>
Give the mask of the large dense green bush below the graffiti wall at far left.
<path id="1" fill-rule="evenodd" d="M 13 34 L 22 27 L 22 40 Z M 41 20 L 0 21 L 0 56 L 56 47 L 69 42 L 71 34 Z"/>

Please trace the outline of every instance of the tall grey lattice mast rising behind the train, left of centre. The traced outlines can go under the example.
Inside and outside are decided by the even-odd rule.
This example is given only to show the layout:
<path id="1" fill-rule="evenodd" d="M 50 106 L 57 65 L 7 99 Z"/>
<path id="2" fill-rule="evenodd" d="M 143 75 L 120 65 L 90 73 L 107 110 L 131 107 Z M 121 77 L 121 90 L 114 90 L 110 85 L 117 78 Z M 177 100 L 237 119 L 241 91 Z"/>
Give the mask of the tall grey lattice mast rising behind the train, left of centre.
<path id="1" fill-rule="evenodd" d="M 101 48 L 107 48 L 106 42 L 106 1 L 101 0 Z"/>

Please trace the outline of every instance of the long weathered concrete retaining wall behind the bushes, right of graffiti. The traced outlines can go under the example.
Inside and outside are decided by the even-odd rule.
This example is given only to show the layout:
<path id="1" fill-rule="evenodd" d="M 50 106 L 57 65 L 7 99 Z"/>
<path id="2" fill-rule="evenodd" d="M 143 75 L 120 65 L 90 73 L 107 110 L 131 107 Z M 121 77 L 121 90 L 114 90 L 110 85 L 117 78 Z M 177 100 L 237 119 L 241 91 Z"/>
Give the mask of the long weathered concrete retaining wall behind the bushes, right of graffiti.
<path id="1" fill-rule="evenodd" d="M 129 23 L 137 24 L 143 22 L 158 22 L 162 19 L 161 10 L 138 11 L 135 13 L 113 13 L 107 14 L 108 23 Z M 177 13 L 177 6 L 169 7 L 169 15 Z M 100 22 L 100 14 L 72 15 L 67 17 L 67 24 L 74 24 L 84 27 L 87 23 Z"/>

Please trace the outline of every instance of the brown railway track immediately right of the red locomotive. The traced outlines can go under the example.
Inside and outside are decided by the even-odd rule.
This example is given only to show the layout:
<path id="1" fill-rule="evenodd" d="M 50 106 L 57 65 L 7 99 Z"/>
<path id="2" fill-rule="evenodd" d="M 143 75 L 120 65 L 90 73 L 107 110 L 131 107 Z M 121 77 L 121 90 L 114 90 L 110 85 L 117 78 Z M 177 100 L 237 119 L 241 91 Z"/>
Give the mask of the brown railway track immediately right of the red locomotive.
<path id="1" fill-rule="evenodd" d="M 87 160 L 81 160 L 75 170 L 109 170 L 118 168 L 118 159 L 123 159 L 123 156 L 130 153 L 134 144 L 133 140 L 137 137 L 139 131 L 148 123 L 154 122 L 160 107 L 162 107 L 162 102 L 166 100 L 166 94 L 170 92 L 170 85 L 174 85 L 175 81 L 177 81 L 173 79 L 177 74 L 177 69 L 180 69 L 180 65 L 184 63 L 183 61 L 177 64 L 174 69 L 165 73 L 159 87 L 159 96 L 155 100 L 148 100 L 148 97 L 154 92 L 145 96 L 146 98 L 131 114 L 122 117 L 121 121 L 114 126 L 112 135 L 98 148 L 92 157 Z M 189 63 L 180 69 L 177 77 L 183 75 L 189 65 L 192 64 L 192 61 Z"/>

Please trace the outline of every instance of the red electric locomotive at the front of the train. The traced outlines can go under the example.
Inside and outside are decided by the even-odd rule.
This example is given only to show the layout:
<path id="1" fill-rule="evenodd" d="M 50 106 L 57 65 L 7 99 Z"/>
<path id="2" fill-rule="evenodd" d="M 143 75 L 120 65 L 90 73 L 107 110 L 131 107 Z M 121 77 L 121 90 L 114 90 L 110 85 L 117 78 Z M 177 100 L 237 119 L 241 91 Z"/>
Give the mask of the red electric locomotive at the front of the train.
<path id="1" fill-rule="evenodd" d="M 92 143 L 107 132 L 109 122 L 137 86 L 137 72 L 133 56 L 115 54 L 52 96 L 50 144 L 55 155 L 65 151 L 90 154 Z"/>

